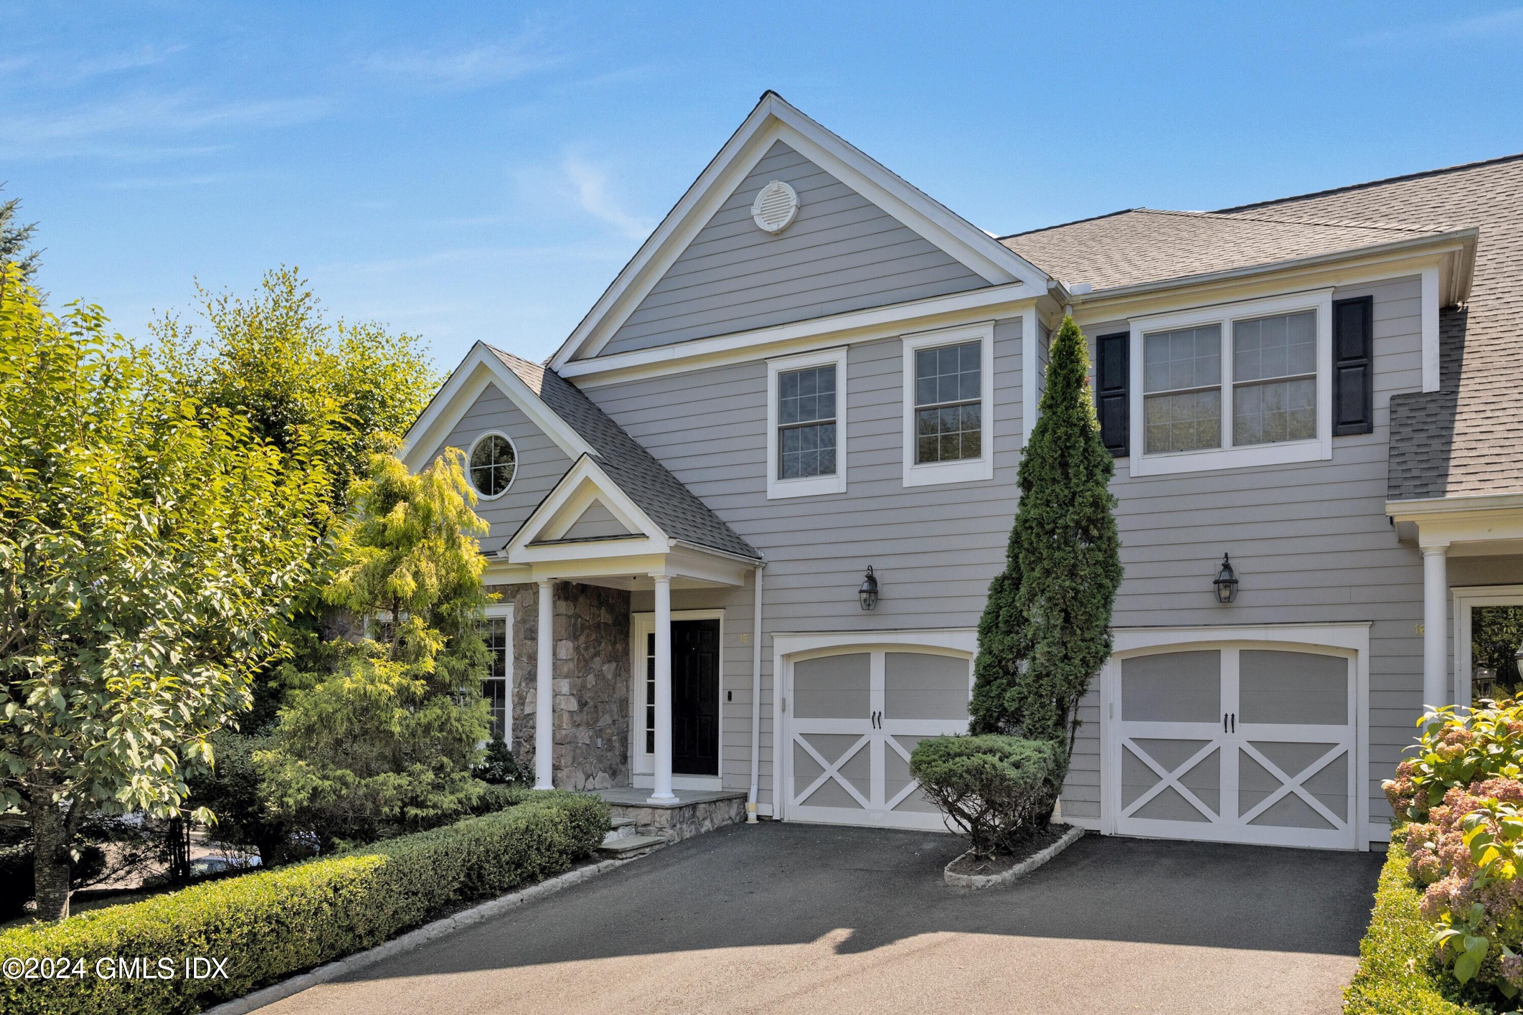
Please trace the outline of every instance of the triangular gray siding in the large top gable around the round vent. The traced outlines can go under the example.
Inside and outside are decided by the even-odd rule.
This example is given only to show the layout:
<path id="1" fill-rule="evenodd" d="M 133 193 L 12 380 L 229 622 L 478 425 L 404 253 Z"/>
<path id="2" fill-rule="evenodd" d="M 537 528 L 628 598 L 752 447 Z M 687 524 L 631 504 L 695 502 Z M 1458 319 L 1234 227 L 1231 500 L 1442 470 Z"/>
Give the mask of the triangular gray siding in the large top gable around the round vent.
<path id="1" fill-rule="evenodd" d="M 757 228 L 751 202 L 783 180 L 798 216 Z M 777 142 L 614 333 L 603 355 L 963 292 L 963 263 Z"/>

